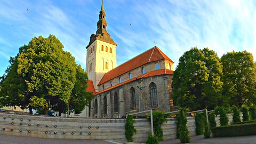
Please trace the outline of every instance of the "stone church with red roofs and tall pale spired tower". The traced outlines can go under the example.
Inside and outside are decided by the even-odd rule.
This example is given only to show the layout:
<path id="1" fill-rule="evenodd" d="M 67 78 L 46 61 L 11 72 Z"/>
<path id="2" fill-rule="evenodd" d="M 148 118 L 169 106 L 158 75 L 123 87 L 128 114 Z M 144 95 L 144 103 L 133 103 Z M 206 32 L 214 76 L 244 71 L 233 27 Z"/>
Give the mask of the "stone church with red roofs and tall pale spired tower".
<path id="1" fill-rule="evenodd" d="M 122 118 L 149 109 L 170 111 L 172 107 L 173 61 L 157 46 L 117 66 L 117 44 L 107 32 L 103 6 L 86 46 L 87 91 L 94 98 L 86 117 Z"/>

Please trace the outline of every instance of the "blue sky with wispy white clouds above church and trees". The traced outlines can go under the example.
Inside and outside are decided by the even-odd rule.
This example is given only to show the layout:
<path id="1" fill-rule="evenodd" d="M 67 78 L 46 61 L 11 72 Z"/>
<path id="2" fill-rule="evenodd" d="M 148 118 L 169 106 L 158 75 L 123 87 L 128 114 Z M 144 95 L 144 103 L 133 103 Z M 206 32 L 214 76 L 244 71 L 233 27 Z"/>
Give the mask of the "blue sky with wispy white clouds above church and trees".
<path id="1" fill-rule="evenodd" d="M 105 0 L 108 33 L 117 64 L 156 45 L 177 65 L 191 47 L 209 47 L 221 57 L 249 51 L 256 57 L 256 1 Z M 0 75 L 10 57 L 31 38 L 57 36 L 85 68 L 101 0 L 0 1 Z M 29 12 L 27 12 L 29 9 Z M 130 26 L 130 23 L 132 24 Z"/>

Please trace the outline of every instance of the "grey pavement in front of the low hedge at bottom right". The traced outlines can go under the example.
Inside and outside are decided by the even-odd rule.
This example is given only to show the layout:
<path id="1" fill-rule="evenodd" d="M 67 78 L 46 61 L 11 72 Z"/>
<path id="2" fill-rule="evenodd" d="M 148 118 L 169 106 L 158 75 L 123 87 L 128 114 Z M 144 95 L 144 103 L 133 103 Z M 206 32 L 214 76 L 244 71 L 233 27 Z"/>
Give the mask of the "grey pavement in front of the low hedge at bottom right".
<path id="1" fill-rule="evenodd" d="M 219 137 L 219 138 L 210 138 L 204 139 L 204 135 L 198 135 L 195 137 L 190 137 L 191 144 L 254 144 L 256 143 L 256 135 L 244 136 L 244 137 Z M 180 141 L 178 139 L 175 140 L 167 140 L 161 141 L 160 144 L 178 144 Z"/>

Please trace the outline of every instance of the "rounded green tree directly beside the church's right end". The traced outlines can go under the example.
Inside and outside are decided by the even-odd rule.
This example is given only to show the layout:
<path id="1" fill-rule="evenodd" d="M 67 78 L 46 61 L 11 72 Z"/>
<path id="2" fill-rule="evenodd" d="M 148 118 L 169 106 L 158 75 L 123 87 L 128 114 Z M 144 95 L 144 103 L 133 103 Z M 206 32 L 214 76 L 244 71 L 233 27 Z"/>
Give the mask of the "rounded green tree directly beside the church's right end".
<path id="1" fill-rule="evenodd" d="M 225 103 L 221 97 L 222 65 L 217 53 L 194 47 L 185 52 L 173 74 L 173 99 L 191 110 L 213 109 Z"/>

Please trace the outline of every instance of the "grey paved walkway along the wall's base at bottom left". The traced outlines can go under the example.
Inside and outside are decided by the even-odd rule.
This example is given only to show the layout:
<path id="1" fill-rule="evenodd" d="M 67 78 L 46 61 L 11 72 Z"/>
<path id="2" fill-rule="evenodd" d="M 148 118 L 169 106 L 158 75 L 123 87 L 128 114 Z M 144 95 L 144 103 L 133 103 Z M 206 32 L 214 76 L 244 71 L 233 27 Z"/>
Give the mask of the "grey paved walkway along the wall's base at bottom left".
<path id="1" fill-rule="evenodd" d="M 111 144 L 101 140 L 41 139 L 0 134 L 0 144 Z"/>

